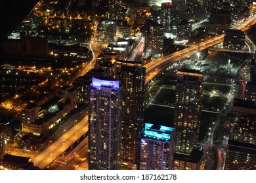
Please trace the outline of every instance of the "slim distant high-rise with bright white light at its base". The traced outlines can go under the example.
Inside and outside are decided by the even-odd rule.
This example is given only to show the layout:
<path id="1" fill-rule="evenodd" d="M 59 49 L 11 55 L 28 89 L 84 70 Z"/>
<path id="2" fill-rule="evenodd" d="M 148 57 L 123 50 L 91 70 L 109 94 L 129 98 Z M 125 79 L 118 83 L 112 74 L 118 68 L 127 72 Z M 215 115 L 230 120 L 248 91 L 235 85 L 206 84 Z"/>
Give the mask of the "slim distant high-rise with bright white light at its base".
<path id="1" fill-rule="evenodd" d="M 173 11 L 171 3 L 161 3 L 161 24 L 165 37 L 171 37 L 173 29 Z"/>

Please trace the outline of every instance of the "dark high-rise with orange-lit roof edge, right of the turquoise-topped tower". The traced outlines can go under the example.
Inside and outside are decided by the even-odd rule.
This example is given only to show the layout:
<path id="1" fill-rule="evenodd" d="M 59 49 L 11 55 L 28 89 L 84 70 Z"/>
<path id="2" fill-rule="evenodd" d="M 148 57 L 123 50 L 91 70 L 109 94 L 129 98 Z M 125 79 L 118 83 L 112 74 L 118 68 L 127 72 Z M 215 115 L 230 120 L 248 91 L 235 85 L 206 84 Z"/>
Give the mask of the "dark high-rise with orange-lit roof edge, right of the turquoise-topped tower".
<path id="1" fill-rule="evenodd" d="M 177 129 L 175 152 L 190 154 L 198 144 L 203 74 L 177 71 L 174 125 Z"/>

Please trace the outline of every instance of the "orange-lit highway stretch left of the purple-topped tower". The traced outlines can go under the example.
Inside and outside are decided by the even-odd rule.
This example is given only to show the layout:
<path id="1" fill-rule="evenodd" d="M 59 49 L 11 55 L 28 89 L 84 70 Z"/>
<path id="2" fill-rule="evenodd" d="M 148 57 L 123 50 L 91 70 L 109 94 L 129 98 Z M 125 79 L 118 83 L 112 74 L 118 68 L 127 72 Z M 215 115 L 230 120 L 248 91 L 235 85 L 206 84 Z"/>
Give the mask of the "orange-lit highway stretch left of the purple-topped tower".
<path id="1" fill-rule="evenodd" d="M 54 159 L 58 158 L 66 149 L 74 144 L 77 139 L 88 131 L 88 116 L 77 122 L 74 127 L 64 133 L 58 140 L 54 141 L 43 152 L 32 159 L 35 166 L 45 169 Z"/>

